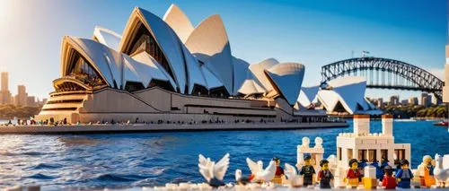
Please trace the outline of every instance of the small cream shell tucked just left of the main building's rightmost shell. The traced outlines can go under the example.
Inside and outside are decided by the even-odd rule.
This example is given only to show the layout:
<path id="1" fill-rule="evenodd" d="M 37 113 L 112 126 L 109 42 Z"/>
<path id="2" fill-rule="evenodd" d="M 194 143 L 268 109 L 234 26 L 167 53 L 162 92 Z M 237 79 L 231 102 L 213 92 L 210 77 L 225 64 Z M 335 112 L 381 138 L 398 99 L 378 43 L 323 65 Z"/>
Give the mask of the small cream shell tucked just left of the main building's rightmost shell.
<path id="1" fill-rule="evenodd" d="M 279 64 L 279 62 L 275 58 L 268 58 L 261 61 L 260 63 L 250 65 L 251 73 L 256 76 L 256 78 L 262 84 L 263 88 L 265 88 L 267 91 L 272 91 L 273 86 L 269 82 L 269 79 L 267 79 L 265 70 L 268 70 L 269 68 L 277 64 Z"/>

